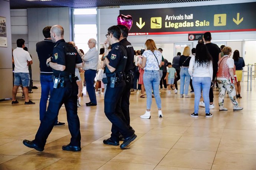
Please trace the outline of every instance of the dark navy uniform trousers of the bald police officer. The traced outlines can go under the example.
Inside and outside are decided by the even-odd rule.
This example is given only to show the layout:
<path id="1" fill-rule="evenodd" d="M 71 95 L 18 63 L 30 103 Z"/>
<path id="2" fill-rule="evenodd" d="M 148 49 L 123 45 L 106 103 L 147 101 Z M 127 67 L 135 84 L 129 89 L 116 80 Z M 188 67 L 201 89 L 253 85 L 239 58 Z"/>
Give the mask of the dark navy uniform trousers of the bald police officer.
<path id="1" fill-rule="evenodd" d="M 65 104 L 68 128 L 71 134 L 70 145 L 81 146 L 80 122 L 77 115 L 77 94 L 78 86 L 75 81 L 65 81 L 65 87 L 54 88 L 49 99 L 49 105 L 45 117 L 40 123 L 37 130 L 35 143 L 37 146 L 44 148 L 46 139 L 53 129 L 55 121 L 59 114 L 62 104 Z"/>

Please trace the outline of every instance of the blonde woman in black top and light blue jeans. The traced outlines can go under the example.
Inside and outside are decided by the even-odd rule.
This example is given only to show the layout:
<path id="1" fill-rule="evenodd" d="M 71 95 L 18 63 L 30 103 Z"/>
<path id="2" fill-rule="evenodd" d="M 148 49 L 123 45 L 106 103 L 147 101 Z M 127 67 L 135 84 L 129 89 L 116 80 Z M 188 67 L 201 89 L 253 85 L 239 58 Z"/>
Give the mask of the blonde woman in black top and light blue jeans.
<path id="1" fill-rule="evenodd" d="M 185 98 L 189 98 L 188 96 L 188 87 L 190 84 L 190 75 L 188 74 L 188 66 L 191 57 L 190 48 L 187 46 L 184 48 L 183 55 L 180 56 L 180 97 L 183 98 L 184 94 L 184 86 L 185 86 Z"/>

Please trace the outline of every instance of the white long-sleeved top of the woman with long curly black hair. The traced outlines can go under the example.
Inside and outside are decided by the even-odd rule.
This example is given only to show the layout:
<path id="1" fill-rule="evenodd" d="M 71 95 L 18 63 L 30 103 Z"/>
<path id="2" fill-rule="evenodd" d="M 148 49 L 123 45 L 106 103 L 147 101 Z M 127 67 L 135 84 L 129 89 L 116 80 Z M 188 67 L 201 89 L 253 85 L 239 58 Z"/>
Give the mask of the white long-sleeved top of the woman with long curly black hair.
<path id="1" fill-rule="evenodd" d="M 202 65 L 198 65 L 195 62 L 195 56 L 192 56 L 189 62 L 188 73 L 193 77 L 210 77 L 213 79 L 213 62 L 209 64 L 208 67 L 203 67 Z"/>

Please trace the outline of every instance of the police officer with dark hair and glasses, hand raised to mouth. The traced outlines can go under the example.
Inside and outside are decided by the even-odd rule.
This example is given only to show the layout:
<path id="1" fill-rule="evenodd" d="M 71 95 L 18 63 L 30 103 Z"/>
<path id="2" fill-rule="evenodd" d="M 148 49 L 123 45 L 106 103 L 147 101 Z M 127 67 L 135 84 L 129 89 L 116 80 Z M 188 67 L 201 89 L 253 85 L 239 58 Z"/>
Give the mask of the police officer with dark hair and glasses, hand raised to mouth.
<path id="1" fill-rule="evenodd" d="M 122 113 L 116 112 L 116 106 L 121 102 L 122 92 L 125 88 L 125 81 L 123 73 L 125 71 L 127 63 L 127 52 L 119 43 L 121 31 L 118 26 L 112 26 L 108 28 L 108 34 L 106 34 L 107 40 L 105 41 L 105 56 L 103 57 L 105 62 L 107 86 L 104 97 L 104 112 L 106 117 L 112 123 L 111 137 L 103 140 L 107 145 L 119 145 L 119 134 L 124 136 L 124 142 L 120 145 L 124 148 L 129 145 L 137 135 L 134 131 L 129 129 L 124 121 L 124 115 L 118 115 Z M 107 50 L 109 43 L 112 45 L 111 50 Z M 104 83 L 105 80 L 103 79 Z"/>

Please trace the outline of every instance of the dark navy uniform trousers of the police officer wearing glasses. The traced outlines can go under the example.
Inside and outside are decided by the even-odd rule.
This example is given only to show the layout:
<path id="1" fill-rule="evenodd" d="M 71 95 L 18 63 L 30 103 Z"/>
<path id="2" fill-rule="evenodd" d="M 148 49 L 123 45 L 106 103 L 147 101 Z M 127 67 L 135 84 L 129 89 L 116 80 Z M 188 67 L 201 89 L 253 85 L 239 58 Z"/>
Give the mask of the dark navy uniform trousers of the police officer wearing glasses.
<path id="1" fill-rule="evenodd" d="M 121 133 L 125 138 L 130 137 L 134 132 L 128 128 L 124 121 L 122 112 L 116 112 L 116 108 L 121 104 L 122 92 L 125 88 L 125 82 L 122 81 L 117 87 L 111 88 L 110 83 L 107 84 L 104 97 L 104 112 L 108 120 L 112 123 L 111 140 L 119 141 Z M 120 132 L 120 133 L 119 133 Z"/>

